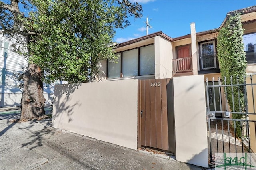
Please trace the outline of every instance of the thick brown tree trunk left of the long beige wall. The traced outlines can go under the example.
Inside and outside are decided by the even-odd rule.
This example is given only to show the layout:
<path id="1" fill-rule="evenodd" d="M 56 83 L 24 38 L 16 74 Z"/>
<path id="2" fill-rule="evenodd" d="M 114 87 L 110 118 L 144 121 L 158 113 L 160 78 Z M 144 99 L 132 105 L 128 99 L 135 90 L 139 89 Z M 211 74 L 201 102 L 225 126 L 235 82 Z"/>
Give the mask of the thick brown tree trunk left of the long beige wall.
<path id="1" fill-rule="evenodd" d="M 45 115 L 42 71 L 35 64 L 29 64 L 22 75 L 24 89 L 21 98 L 20 120 L 39 118 Z"/>

